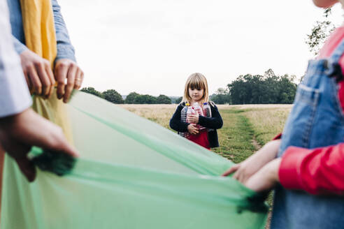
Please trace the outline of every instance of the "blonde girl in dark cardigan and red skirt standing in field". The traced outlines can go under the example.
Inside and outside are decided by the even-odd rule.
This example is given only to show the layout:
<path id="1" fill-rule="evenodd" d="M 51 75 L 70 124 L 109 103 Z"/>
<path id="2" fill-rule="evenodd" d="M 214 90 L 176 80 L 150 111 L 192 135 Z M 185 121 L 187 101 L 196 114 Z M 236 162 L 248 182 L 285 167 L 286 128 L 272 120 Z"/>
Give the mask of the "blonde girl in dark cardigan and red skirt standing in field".
<path id="1" fill-rule="evenodd" d="M 177 110 L 175 110 L 170 120 L 170 126 L 173 130 L 178 131 L 178 133 L 189 133 L 189 135 L 187 135 L 189 140 L 210 149 L 213 147 L 219 147 L 216 129 L 221 128 L 223 122 L 216 105 L 208 100 L 208 83 L 206 77 L 201 73 L 190 75 L 185 83 L 182 102 L 178 105 Z M 212 117 L 203 117 L 196 113 L 188 116 L 188 121 L 190 121 L 190 123 L 181 121 L 180 112 L 182 111 L 182 108 L 185 107 L 186 103 L 189 103 L 191 106 L 194 106 L 195 103 L 199 103 L 199 105 L 209 103 Z M 200 130 L 198 128 L 199 125 L 197 124 L 213 130 L 207 131 L 206 128 Z"/>

